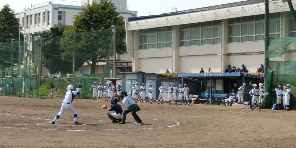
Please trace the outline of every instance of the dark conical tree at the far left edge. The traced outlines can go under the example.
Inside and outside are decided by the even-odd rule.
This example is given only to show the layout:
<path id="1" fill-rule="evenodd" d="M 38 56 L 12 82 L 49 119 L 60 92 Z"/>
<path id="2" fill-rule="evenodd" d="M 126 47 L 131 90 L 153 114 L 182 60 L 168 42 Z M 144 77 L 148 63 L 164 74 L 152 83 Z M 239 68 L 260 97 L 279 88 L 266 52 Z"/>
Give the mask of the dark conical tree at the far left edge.
<path id="1" fill-rule="evenodd" d="M 8 4 L 4 5 L 0 10 L 0 16 L 0 42 L 18 40 L 19 20 L 15 17 L 14 11 Z M 22 33 L 20 38 L 24 38 Z"/>

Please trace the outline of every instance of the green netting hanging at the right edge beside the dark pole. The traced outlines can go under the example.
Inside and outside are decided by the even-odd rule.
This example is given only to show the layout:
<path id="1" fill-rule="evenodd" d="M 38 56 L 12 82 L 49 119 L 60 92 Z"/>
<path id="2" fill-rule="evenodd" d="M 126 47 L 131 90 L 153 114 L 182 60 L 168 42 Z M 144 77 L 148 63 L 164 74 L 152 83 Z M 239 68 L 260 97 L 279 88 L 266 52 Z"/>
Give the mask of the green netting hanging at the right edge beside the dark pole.
<path id="1" fill-rule="evenodd" d="M 296 38 L 274 38 L 269 42 L 265 55 L 269 58 L 268 69 L 270 70 L 266 74 L 265 93 L 269 94 L 264 96 L 261 107 L 271 108 L 272 104 L 276 103 L 274 86 L 290 84 L 290 107 L 296 108 L 296 56 L 293 56 L 296 50 Z"/>

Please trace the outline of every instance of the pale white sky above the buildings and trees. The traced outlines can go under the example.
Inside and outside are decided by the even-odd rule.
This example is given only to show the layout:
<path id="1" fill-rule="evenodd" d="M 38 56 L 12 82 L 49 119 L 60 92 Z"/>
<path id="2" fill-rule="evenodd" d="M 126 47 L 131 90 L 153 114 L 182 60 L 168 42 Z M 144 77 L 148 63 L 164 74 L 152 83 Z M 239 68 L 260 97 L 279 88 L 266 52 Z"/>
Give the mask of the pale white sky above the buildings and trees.
<path id="1" fill-rule="evenodd" d="M 62 0 L 61 0 L 62 1 Z M 81 0 L 66 0 L 81 2 Z M 127 0 L 129 10 L 138 11 L 138 16 L 157 15 L 162 13 L 201 8 L 246 0 Z M 31 4 L 50 2 L 50 0 L 0 0 L 0 9 L 7 3 L 13 10 L 28 8 Z"/>

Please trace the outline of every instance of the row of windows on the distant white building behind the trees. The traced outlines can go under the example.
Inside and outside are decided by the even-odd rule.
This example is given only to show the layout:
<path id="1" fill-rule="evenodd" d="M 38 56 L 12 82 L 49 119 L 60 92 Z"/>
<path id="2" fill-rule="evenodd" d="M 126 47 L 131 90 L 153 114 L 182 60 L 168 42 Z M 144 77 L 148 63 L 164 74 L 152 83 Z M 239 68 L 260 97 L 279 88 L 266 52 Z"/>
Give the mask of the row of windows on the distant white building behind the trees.
<path id="1" fill-rule="evenodd" d="M 42 14 L 42 15 L 41 15 Z M 42 20 L 41 20 L 42 18 Z M 34 19 L 34 22 L 33 22 Z M 58 25 L 65 25 L 65 20 L 66 20 L 66 12 L 65 11 L 58 11 Z M 22 26 L 25 27 L 26 29 L 30 27 L 39 27 L 41 26 L 47 26 L 50 25 L 50 11 L 44 11 L 40 13 L 35 13 L 34 17 L 33 14 L 31 15 L 26 15 L 26 24 L 24 22 L 24 18 L 22 18 Z M 41 22 L 43 22 L 41 24 Z"/>

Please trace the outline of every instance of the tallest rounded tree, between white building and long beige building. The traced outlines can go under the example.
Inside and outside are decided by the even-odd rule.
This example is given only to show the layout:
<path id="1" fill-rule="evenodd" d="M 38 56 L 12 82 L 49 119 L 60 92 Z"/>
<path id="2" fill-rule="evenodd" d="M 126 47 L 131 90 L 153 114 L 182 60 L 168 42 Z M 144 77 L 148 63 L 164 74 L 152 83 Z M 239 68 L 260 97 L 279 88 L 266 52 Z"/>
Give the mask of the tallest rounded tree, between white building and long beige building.
<path id="1" fill-rule="evenodd" d="M 91 74 L 95 74 L 96 63 L 107 58 L 112 40 L 112 25 L 116 25 L 116 52 L 122 54 L 126 51 L 125 23 L 119 15 L 111 0 L 101 0 L 99 4 L 93 2 L 92 5 L 82 6 L 82 11 L 75 16 L 72 31 L 77 32 L 76 52 L 85 58 L 91 67 Z M 81 32 L 89 33 L 78 34 Z"/>

